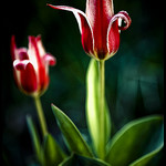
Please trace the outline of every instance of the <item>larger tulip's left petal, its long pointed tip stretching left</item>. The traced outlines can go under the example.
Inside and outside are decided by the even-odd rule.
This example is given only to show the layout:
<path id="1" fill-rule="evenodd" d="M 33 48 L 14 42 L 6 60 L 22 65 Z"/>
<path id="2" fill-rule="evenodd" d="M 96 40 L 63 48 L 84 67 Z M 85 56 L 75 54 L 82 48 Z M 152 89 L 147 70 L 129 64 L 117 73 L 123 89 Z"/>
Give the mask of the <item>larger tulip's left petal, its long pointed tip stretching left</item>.
<path id="1" fill-rule="evenodd" d="M 80 32 L 82 34 L 82 45 L 86 53 L 94 54 L 94 35 L 92 27 L 87 20 L 87 17 L 84 12 L 79 9 L 65 6 L 52 6 L 48 4 L 53 9 L 72 11 L 79 23 Z"/>

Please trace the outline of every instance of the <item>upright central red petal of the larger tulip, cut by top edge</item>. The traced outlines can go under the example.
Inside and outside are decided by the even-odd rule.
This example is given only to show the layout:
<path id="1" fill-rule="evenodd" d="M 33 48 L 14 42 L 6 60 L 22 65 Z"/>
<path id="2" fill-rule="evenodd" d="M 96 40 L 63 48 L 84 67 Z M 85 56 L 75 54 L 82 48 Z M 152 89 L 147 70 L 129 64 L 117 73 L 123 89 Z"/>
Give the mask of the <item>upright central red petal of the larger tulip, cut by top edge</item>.
<path id="1" fill-rule="evenodd" d="M 85 13 L 92 25 L 97 59 L 106 59 L 108 52 L 106 45 L 107 27 L 114 14 L 113 0 L 86 0 Z"/>

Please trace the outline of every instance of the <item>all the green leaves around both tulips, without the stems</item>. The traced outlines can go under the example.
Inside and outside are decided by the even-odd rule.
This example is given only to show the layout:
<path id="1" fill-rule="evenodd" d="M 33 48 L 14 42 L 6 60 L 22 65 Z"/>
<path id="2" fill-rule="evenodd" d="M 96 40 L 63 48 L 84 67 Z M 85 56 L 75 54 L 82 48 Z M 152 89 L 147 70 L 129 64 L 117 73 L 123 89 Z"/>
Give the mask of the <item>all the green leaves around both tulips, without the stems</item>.
<path id="1" fill-rule="evenodd" d="M 100 142 L 98 129 L 98 71 L 95 60 L 91 60 L 86 75 L 86 118 L 89 132 L 92 136 L 93 148 L 97 152 Z M 153 115 L 132 121 L 123 126 L 111 139 L 111 118 L 105 102 L 105 133 L 108 142 L 106 157 L 101 160 L 94 158 L 74 123 L 56 106 L 52 111 L 63 134 L 71 156 L 66 158 L 56 141 L 48 134 L 41 145 L 39 134 L 30 116 L 27 117 L 29 131 L 38 162 L 42 166 L 147 166 L 164 146 L 163 116 Z M 106 163 L 105 163 L 106 162 Z"/>

